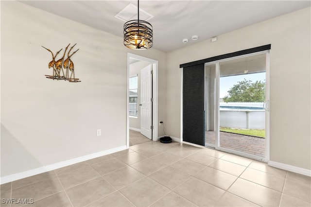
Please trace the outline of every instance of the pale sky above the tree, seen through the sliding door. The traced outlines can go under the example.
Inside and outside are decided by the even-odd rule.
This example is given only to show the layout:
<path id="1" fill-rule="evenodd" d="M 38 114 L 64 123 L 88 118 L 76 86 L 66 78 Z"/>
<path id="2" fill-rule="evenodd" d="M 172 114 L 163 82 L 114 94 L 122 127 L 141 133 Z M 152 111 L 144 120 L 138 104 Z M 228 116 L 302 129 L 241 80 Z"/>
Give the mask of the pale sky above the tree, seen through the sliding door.
<path id="1" fill-rule="evenodd" d="M 228 95 L 228 90 L 236 85 L 239 81 L 244 80 L 251 80 L 254 82 L 256 81 L 265 81 L 266 80 L 266 73 L 260 72 L 260 73 L 252 73 L 252 74 L 245 74 L 245 75 L 234 75 L 234 76 L 226 76 L 220 78 L 219 83 L 219 97 L 224 98 L 226 95 Z"/>

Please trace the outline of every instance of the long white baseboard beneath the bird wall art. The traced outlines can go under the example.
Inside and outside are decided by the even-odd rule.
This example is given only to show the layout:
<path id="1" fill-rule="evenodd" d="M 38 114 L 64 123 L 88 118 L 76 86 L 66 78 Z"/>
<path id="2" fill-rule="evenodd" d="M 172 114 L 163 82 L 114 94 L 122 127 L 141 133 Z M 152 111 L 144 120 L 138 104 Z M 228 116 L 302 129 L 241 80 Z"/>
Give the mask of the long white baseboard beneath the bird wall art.
<path id="1" fill-rule="evenodd" d="M 51 165 L 46 165 L 44 167 L 35 168 L 35 169 L 29 170 L 29 171 L 3 176 L 3 177 L 0 178 L 0 184 L 12 182 L 12 181 L 15 181 L 15 180 L 19 180 L 19 179 L 22 179 L 22 178 L 25 178 L 25 177 L 30 177 L 30 176 L 33 176 L 33 175 L 36 175 L 36 174 L 40 174 L 40 173 L 45 173 L 45 172 L 52 171 L 52 170 L 55 170 L 55 169 L 58 169 L 58 168 L 66 167 L 66 166 L 69 166 L 69 165 L 73 165 L 73 164 L 76 164 L 78 162 L 83 162 L 83 161 L 86 161 L 86 160 L 89 160 L 89 159 L 93 159 L 93 158 L 96 158 L 96 157 L 99 157 L 99 156 L 104 156 L 104 155 L 109 155 L 109 154 L 112 154 L 112 153 L 116 153 L 116 152 L 119 152 L 119 151 L 122 151 L 122 150 L 126 150 L 126 145 L 121 146 L 121 147 L 117 147 L 117 148 L 113 148 L 113 149 L 110 149 L 110 150 L 105 150 L 105 151 L 98 152 L 98 153 L 93 153 L 93 154 L 90 154 L 90 155 L 80 156 L 80 157 L 69 159 L 69 160 L 66 160 L 66 161 L 54 163 L 54 164 L 51 164 Z"/>

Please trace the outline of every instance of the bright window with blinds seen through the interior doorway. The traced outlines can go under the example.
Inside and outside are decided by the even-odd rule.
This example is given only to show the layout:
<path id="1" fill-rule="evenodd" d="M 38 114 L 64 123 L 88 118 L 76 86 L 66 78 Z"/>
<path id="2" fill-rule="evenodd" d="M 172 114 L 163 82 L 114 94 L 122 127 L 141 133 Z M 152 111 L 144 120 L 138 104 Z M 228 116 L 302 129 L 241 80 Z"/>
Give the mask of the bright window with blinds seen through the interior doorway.
<path id="1" fill-rule="evenodd" d="M 129 115 L 138 115 L 138 75 L 131 75 L 129 80 Z"/>

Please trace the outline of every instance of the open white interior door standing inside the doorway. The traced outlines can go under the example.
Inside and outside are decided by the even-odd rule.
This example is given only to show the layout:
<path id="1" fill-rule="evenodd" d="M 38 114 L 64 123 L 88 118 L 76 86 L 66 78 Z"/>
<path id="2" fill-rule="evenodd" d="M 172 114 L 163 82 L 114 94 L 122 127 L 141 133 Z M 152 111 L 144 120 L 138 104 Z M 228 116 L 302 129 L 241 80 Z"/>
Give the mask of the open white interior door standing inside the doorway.
<path id="1" fill-rule="evenodd" d="M 140 133 L 152 139 L 152 65 L 141 69 L 140 73 Z"/>

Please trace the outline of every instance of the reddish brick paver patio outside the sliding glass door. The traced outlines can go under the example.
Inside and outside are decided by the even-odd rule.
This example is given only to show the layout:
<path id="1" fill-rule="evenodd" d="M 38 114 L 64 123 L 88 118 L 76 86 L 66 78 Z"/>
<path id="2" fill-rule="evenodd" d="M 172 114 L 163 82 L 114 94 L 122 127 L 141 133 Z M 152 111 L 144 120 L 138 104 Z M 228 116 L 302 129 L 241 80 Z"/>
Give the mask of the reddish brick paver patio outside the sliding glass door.
<path id="1" fill-rule="evenodd" d="M 206 131 L 205 141 L 208 144 L 214 145 L 215 132 Z M 262 157 L 264 157 L 265 154 L 264 138 L 220 132 L 220 146 L 227 149 L 236 150 L 251 155 L 258 155 Z"/>

